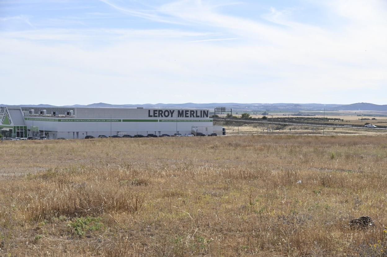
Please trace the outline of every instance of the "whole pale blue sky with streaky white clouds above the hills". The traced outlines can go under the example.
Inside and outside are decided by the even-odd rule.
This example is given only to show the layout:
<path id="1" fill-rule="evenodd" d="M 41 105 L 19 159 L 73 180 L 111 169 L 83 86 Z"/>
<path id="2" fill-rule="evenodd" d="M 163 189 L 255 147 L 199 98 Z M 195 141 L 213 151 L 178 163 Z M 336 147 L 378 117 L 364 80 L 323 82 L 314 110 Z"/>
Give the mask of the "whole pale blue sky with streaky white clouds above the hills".
<path id="1" fill-rule="evenodd" d="M 387 104 L 385 0 L 0 0 L 0 104 Z"/>

